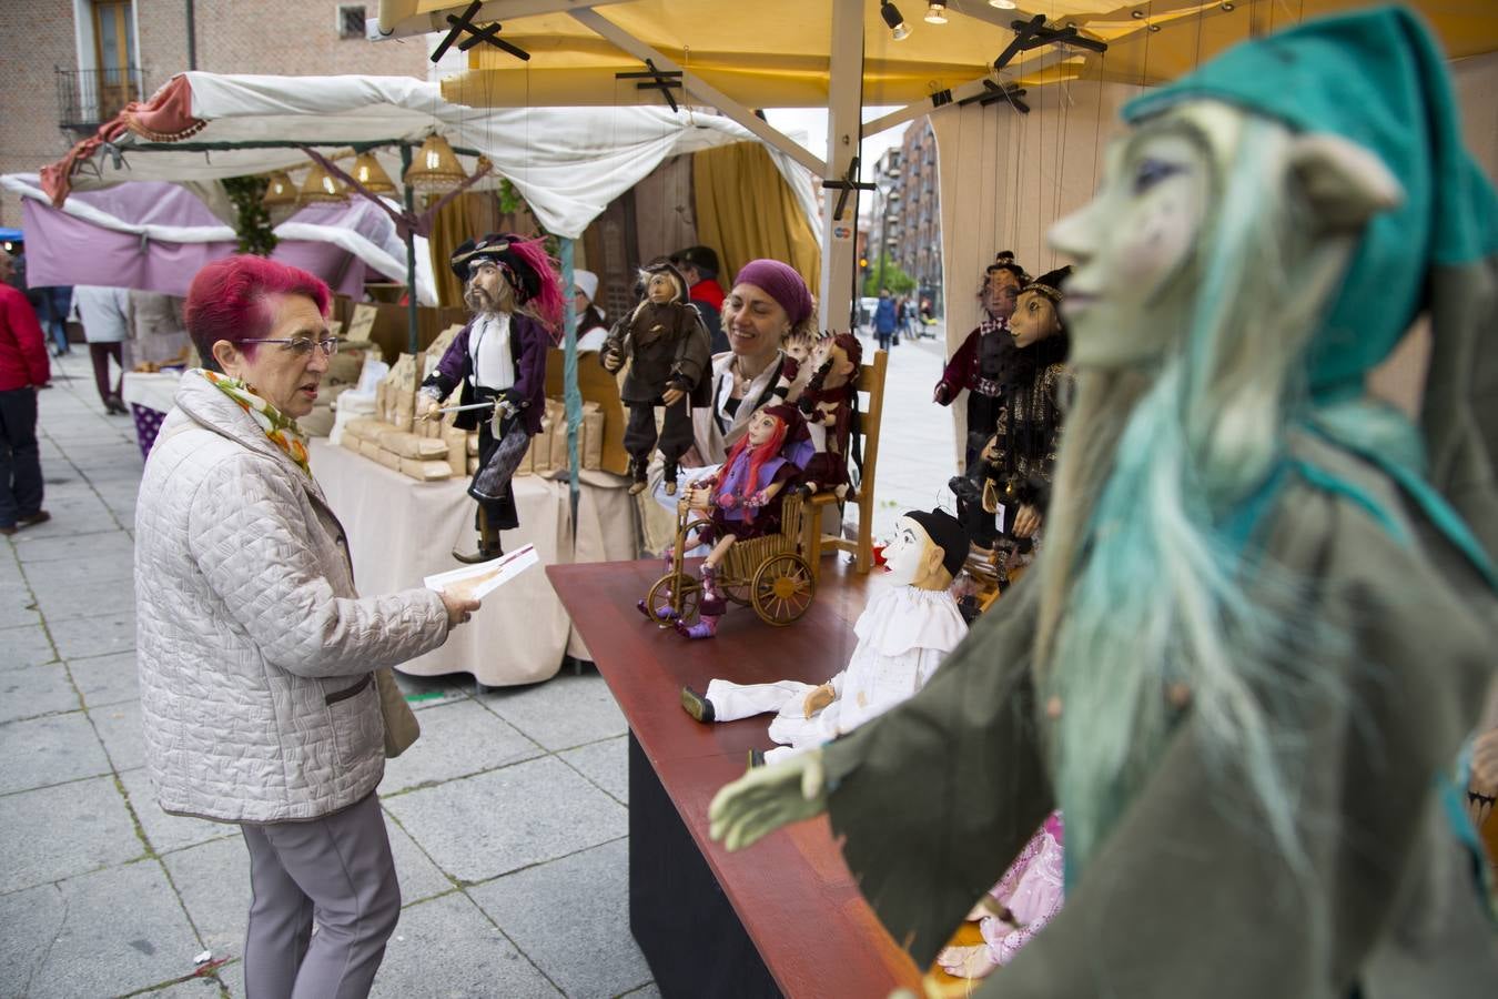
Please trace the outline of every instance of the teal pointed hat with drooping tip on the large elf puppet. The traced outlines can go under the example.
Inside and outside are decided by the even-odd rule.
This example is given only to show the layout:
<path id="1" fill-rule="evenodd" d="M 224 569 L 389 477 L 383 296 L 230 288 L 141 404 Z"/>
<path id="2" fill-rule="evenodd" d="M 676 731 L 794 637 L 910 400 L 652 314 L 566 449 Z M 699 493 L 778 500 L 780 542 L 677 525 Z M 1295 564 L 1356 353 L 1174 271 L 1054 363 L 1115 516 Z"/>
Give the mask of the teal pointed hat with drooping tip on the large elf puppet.
<path id="1" fill-rule="evenodd" d="M 1243 42 L 1131 100 L 1124 118 L 1201 99 L 1350 139 L 1404 186 L 1404 202 L 1369 222 L 1311 343 L 1315 395 L 1362 388 L 1420 312 L 1432 267 L 1498 252 L 1498 201 L 1462 145 L 1441 51 L 1408 10 L 1377 7 Z"/>

